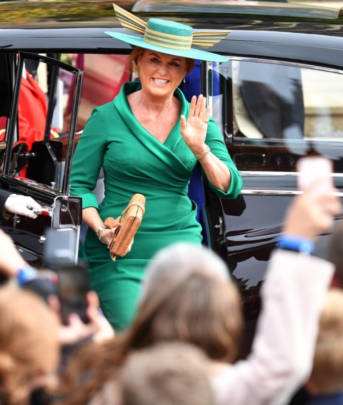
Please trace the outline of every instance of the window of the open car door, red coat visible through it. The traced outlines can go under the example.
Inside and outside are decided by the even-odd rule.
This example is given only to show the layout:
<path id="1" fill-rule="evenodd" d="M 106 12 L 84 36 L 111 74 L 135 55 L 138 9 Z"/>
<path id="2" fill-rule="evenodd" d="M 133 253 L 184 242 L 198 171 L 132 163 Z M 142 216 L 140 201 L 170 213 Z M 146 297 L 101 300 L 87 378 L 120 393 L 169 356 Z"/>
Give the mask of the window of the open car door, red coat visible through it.
<path id="1" fill-rule="evenodd" d="M 21 177 L 30 184 L 32 180 L 44 183 L 67 195 L 72 158 L 68 151 L 74 145 L 82 71 L 61 63 L 56 57 L 28 52 L 19 52 L 15 57 L 13 100 L 10 111 L 6 112 L 8 125 L 2 123 L 7 147 L 1 170 L 5 175 Z M 39 73 L 42 67 L 44 73 Z M 75 77 L 72 119 L 66 133 L 52 124 L 56 104 L 60 102 L 56 89 L 63 69 Z M 63 135 L 66 135 L 65 142 Z"/>

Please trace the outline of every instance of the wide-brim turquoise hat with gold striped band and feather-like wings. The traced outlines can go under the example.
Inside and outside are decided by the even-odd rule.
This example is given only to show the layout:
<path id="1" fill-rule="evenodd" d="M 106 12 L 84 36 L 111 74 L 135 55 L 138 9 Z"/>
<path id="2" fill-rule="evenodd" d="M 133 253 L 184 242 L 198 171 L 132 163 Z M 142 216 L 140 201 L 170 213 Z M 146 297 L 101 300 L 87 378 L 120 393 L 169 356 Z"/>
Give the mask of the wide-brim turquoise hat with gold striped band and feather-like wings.
<path id="1" fill-rule="evenodd" d="M 156 52 L 181 56 L 201 61 L 227 62 L 228 58 L 218 53 L 196 49 L 193 46 L 212 46 L 230 31 L 193 31 L 193 28 L 180 22 L 151 18 L 148 22 L 139 19 L 123 8 L 113 4 L 114 11 L 123 27 L 143 38 L 121 32 L 105 31 L 106 35 Z"/>

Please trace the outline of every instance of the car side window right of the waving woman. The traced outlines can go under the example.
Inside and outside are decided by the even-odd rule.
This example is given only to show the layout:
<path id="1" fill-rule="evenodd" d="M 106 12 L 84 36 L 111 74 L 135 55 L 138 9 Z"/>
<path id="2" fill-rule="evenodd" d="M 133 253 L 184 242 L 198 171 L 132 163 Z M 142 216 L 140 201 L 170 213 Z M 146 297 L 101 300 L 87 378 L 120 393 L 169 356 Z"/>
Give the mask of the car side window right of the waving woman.
<path id="1" fill-rule="evenodd" d="M 309 154 L 335 159 L 343 72 L 234 58 L 214 70 L 213 116 L 241 170 L 295 171 Z"/>

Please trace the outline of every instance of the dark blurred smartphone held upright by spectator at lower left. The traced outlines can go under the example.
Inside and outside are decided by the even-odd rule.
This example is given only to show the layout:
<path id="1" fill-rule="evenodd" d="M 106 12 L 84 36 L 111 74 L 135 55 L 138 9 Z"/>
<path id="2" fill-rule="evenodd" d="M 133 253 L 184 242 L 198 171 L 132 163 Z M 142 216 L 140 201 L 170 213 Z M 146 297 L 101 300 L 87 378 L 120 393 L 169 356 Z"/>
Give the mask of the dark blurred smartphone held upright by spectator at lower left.
<path id="1" fill-rule="evenodd" d="M 58 296 L 61 304 L 61 317 L 64 325 L 68 325 L 71 314 L 77 314 L 84 323 L 89 319 L 86 314 L 86 294 L 89 291 L 85 266 L 67 266 L 57 270 Z"/>

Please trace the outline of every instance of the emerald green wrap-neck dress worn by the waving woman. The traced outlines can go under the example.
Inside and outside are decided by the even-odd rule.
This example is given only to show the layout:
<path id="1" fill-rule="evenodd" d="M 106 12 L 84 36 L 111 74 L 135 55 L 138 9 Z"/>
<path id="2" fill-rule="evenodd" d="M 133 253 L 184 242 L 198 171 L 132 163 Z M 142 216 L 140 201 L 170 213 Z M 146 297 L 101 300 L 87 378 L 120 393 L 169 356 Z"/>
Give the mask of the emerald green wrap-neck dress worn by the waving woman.
<path id="1" fill-rule="evenodd" d="M 196 203 L 187 196 L 196 158 L 180 134 L 180 119 L 163 144 L 140 125 L 126 97 L 140 89 L 140 82 L 125 83 L 112 102 L 94 109 L 77 144 L 71 174 L 71 194 L 82 197 L 83 208 L 98 208 L 102 220 L 119 216 L 135 193 L 147 199 L 142 224 L 124 257 L 113 262 L 90 228 L 79 252 L 90 265 L 90 287 L 98 293 L 103 313 L 116 331 L 135 315 L 140 282 L 154 253 L 175 242 L 201 244 Z M 187 117 L 190 104 L 181 90 L 176 89 L 175 96 Z M 242 179 L 212 119 L 206 144 L 231 171 L 227 193 L 211 185 L 212 189 L 221 198 L 236 198 Z M 98 206 L 92 191 L 101 167 L 105 197 Z"/>

